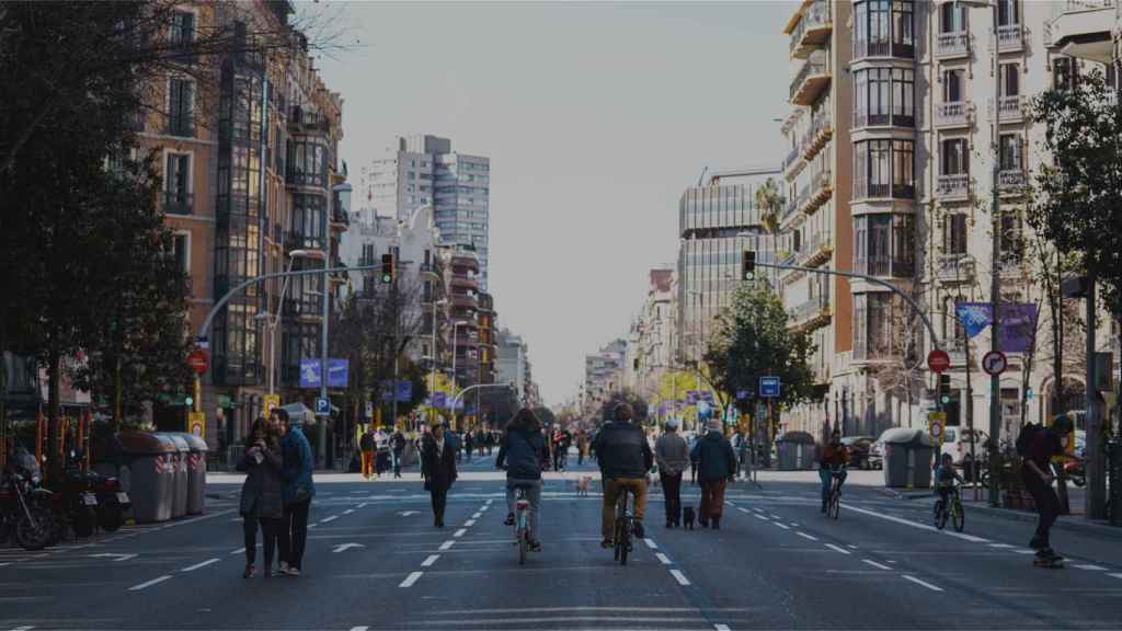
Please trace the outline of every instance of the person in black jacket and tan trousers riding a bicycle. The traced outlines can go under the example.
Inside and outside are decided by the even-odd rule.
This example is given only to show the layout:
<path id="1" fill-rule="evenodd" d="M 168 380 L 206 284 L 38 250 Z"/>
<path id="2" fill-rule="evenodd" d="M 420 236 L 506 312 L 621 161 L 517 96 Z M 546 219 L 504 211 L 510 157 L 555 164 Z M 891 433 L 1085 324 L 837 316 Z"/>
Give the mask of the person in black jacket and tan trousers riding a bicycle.
<path id="1" fill-rule="evenodd" d="M 604 482 L 604 505 L 600 515 L 600 546 L 615 546 L 613 530 L 616 520 L 616 504 L 627 491 L 635 494 L 635 536 L 642 539 L 643 514 L 646 511 L 646 472 L 654 465 L 654 454 L 646 441 L 643 428 L 632 423 L 635 411 L 627 403 L 619 403 L 613 412 L 613 421 L 606 423 L 596 436 L 594 449 L 600 465 Z"/>

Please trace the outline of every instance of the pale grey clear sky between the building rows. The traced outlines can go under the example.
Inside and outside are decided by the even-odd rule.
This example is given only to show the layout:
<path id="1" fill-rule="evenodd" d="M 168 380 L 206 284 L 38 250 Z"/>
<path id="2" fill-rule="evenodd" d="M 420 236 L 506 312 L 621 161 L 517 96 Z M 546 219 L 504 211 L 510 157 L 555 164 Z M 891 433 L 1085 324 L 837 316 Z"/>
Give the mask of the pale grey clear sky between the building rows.
<path id="1" fill-rule="evenodd" d="M 559 404 L 677 259 L 682 191 L 707 166 L 782 161 L 795 6 L 334 3 L 347 47 L 318 65 L 352 179 L 397 136 L 490 157 L 495 309 Z"/>

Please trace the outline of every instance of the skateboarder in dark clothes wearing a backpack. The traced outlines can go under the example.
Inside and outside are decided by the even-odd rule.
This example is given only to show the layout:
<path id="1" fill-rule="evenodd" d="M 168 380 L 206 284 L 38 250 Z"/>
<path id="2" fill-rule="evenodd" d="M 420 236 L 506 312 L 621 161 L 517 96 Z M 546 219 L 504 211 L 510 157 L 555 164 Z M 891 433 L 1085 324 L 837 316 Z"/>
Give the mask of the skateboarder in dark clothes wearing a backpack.
<path id="1" fill-rule="evenodd" d="M 1059 561 L 1060 557 L 1051 548 L 1049 533 L 1059 516 L 1059 497 L 1052 488 L 1051 459 L 1064 454 L 1063 437 L 1072 433 L 1072 419 L 1065 414 L 1056 417 L 1051 427 L 1029 423 L 1017 436 L 1017 454 L 1021 456 L 1021 479 L 1037 505 L 1037 531 L 1029 547 L 1037 550 L 1041 561 Z"/>

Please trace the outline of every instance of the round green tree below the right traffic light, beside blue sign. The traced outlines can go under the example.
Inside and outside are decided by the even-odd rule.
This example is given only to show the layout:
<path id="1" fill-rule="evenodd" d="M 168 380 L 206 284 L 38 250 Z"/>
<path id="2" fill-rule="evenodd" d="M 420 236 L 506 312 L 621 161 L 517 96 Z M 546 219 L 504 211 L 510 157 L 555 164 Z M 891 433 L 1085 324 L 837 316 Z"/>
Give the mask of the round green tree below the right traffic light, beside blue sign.
<path id="1" fill-rule="evenodd" d="M 813 393 L 813 374 L 807 364 L 813 350 L 809 333 L 788 329 L 779 296 L 762 283 L 742 283 L 732 304 L 717 317 L 706 363 L 724 392 L 754 392 L 760 377 L 778 376 L 783 384 L 779 401 L 792 404 Z"/>

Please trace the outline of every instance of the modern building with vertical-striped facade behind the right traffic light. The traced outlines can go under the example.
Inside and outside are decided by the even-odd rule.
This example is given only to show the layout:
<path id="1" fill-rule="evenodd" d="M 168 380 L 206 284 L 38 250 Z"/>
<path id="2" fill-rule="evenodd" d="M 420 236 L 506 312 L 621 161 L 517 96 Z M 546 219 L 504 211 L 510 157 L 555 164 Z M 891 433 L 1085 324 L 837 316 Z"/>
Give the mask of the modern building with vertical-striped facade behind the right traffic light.
<path id="1" fill-rule="evenodd" d="M 732 302 L 739 285 L 744 250 L 755 250 L 758 262 L 773 260 L 774 239 L 764 227 L 756 190 L 780 173 L 773 168 L 718 172 L 707 185 L 682 193 L 674 336 L 674 353 L 682 362 L 696 363 L 705 353 L 714 318 Z"/>

